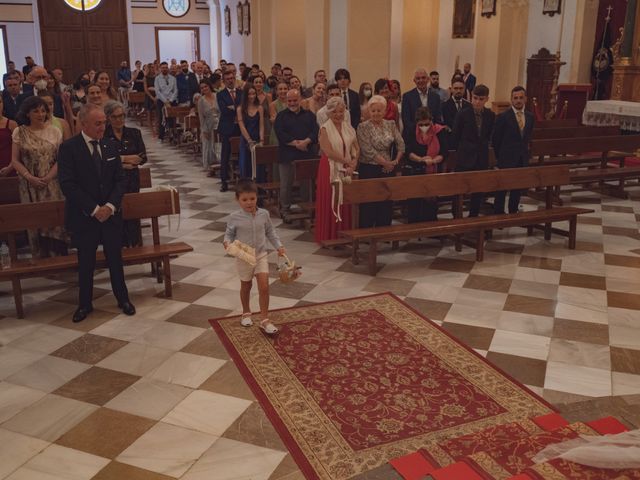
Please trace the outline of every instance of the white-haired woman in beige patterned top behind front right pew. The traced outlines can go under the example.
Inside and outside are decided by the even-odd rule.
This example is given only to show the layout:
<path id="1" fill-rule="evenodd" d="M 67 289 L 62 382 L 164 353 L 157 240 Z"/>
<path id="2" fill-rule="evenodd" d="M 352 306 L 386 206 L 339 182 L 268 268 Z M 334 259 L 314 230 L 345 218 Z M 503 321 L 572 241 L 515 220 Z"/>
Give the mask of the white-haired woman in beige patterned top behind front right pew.
<path id="1" fill-rule="evenodd" d="M 369 120 L 358 125 L 360 179 L 391 177 L 404 155 L 404 141 L 393 120 L 385 120 L 387 101 L 380 95 L 369 100 Z M 391 225 L 393 202 L 360 204 L 360 228 Z"/>

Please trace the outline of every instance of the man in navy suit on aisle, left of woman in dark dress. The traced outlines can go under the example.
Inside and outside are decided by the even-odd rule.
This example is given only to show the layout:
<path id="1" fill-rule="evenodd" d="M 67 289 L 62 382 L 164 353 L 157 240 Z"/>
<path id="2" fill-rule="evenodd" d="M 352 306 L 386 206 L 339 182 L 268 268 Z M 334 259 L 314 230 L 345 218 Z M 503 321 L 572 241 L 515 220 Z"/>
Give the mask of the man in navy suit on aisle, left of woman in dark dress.
<path id="1" fill-rule="evenodd" d="M 220 109 L 220 123 L 218 123 L 218 133 L 222 140 L 222 151 L 220 152 L 220 186 L 221 192 L 229 189 L 229 159 L 231 157 L 231 137 L 240 136 L 238 126 L 238 116 L 236 108 L 242 103 L 242 92 L 236 88 L 235 70 L 225 70 L 222 75 L 224 89 L 216 95 L 218 108 Z"/>

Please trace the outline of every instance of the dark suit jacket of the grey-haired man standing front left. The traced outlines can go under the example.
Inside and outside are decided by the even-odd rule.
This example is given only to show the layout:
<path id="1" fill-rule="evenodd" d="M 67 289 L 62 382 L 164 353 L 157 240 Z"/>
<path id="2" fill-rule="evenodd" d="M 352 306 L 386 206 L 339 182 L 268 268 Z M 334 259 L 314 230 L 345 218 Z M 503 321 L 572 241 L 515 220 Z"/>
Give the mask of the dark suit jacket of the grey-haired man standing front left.
<path id="1" fill-rule="evenodd" d="M 65 227 L 73 233 L 93 228 L 122 228 L 120 205 L 127 180 L 116 145 L 111 140 L 100 141 L 102 175 L 98 175 L 91 151 L 78 134 L 62 145 L 58 151 L 58 180 L 65 202 Z M 116 214 L 100 223 L 91 214 L 96 206 L 111 203 Z"/>

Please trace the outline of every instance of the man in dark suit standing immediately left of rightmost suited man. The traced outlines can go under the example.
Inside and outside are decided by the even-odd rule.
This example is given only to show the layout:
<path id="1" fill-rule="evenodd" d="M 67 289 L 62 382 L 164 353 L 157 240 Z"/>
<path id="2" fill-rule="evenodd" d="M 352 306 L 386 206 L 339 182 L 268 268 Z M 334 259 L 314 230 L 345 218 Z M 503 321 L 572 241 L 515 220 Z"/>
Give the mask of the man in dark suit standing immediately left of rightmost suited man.
<path id="1" fill-rule="evenodd" d="M 471 107 L 461 110 L 453 126 L 453 144 L 456 149 L 456 172 L 487 170 L 489 168 L 489 141 L 496 115 L 485 103 L 489 100 L 486 85 L 476 85 L 471 97 Z M 477 217 L 484 195 L 471 195 L 469 216 Z"/>

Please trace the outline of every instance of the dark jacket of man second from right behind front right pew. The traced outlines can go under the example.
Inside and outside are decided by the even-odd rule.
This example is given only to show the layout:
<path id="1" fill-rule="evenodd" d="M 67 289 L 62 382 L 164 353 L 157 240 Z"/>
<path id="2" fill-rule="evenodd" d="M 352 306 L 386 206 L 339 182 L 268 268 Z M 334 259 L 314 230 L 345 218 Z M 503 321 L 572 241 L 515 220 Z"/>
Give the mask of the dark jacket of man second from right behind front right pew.
<path id="1" fill-rule="evenodd" d="M 489 141 L 496 114 L 482 109 L 482 129 L 478 135 L 475 112 L 465 108 L 456 116 L 453 126 L 453 144 L 456 149 L 456 170 L 486 170 L 489 168 Z"/>

